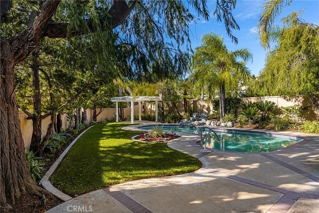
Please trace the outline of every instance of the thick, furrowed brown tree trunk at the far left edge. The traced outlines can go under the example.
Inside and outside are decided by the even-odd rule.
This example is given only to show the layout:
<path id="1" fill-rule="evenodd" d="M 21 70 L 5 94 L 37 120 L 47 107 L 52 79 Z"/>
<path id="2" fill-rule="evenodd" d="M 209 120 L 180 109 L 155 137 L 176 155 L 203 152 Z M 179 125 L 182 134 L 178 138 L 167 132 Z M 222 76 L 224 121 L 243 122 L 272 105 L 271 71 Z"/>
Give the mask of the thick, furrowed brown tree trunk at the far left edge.
<path id="1" fill-rule="evenodd" d="M 2 46 L 1 48 L 6 48 Z M 4 50 L 5 51 L 5 50 Z M 9 49 L 7 50 L 7 52 Z M 1 50 L 3 53 L 3 49 Z M 36 193 L 36 185 L 26 166 L 25 149 L 15 102 L 14 61 L 1 55 L 0 81 L 0 205 L 6 211 L 26 191 Z M 6 208 L 6 209 L 5 209 Z"/>

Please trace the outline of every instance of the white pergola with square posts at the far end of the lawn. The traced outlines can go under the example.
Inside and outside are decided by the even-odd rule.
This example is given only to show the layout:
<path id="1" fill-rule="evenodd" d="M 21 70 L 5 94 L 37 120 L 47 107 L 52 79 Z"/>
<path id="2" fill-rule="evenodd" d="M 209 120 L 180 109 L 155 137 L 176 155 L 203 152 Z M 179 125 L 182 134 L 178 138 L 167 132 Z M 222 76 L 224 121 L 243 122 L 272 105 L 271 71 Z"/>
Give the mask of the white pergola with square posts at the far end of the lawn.
<path id="1" fill-rule="evenodd" d="M 139 102 L 139 120 L 142 120 L 142 101 L 155 101 L 155 121 L 159 121 L 159 96 L 123 96 L 111 98 L 112 102 L 115 102 L 115 119 L 119 122 L 119 102 L 131 102 L 131 123 L 134 124 L 134 102 Z"/>

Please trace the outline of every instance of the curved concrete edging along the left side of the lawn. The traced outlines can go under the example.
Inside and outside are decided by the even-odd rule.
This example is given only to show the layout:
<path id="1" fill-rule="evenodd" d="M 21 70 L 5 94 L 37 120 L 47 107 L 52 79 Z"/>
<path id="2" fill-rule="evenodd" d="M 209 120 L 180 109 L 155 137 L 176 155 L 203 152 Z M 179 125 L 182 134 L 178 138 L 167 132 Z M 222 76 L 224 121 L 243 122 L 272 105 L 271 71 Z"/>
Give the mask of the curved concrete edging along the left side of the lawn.
<path id="1" fill-rule="evenodd" d="M 53 172 L 56 170 L 56 168 L 59 166 L 59 164 L 61 163 L 61 161 L 63 160 L 63 158 L 65 157 L 65 155 L 69 152 L 69 150 L 71 149 L 71 147 L 75 144 L 75 142 L 87 131 L 89 130 L 91 127 L 87 128 L 86 130 L 84 130 L 80 135 L 78 135 L 73 141 L 72 143 L 64 150 L 64 152 L 60 155 L 60 157 L 54 162 L 54 164 L 50 167 L 50 169 L 45 173 L 45 175 L 42 177 L 42 179 L 39 182 L 39 185 L 41 185 L 45 190 L 49 191 L 50 193 L 52 193 L 53 195 L 55 195 L 56 197 L 58 197 L 59 199 L 61 199 L 62 201 L 68 201 L 71 200 L 72 197 L 68 196 L 66 194 L 64 194 L 63 192 L 59 191 L 58 189 L 56 189 L 51 182 L 49 181 L 50 176 L 53 174 Z"/>

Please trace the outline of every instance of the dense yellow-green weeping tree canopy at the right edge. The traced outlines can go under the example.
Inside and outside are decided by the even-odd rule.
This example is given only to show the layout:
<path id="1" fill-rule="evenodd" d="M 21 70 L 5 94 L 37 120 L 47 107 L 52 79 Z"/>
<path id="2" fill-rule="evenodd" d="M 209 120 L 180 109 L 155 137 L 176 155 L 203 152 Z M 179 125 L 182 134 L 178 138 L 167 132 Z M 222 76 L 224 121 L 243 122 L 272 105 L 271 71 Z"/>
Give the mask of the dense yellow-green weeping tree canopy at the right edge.
<path id="1" fill-rule="evenodd" d="M 265 68 L 249 90 L 255 95 L 306 95 L 316 106 L 319 26 L 304 22 L 297 12 L 283 20 L 285 25 L 276 33 L 277 45 L 268 53 Z"/>

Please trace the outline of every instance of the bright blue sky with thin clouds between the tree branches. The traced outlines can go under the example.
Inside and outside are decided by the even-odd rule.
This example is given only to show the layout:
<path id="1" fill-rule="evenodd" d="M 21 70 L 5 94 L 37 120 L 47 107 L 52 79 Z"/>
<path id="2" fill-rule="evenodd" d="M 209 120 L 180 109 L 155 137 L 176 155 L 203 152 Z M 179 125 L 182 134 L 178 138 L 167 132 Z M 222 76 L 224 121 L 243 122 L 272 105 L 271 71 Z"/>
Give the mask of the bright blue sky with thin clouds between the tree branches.
<path id="1" fill-rule="evenodd" d="M 250 69 L 251 74 L 258 76 L 265 65 L 265 50 L 261 44 L 257 25 L 259 16 L 262 12 L 262 6 L 265 0 L 237 0 L 236 8 L 233 10 L 233 16 L 238 23 L 240 30 L 233 30 L 233 35 L 238 38 L 238 44 L 235 44 L 228 37 L 224 22 L 218 22 L 213 16 L 216 6 L 215 0 L 208 0 L 208 10 L 210 18 L 205 21 L 203 17 L 198 17 L 196 22 L 189 25 L 191 46 L 195 49 L 201 45 L 201 35 L 207 32 L 216 33 L 223 36 L 224 44 L 227 49 L 234 51 L 241 48 L 248 48 L 253 54 L 253 62 L 247 62 L 246 66 Z M 301 16 L 306 22 L 319 25 L 319 0 L 293 0 L 290 6 L 285 7 L 281 14 L 276 18 L 275 23 L 283 25 L 281 19 L 288 16 L 292 11 L 304 10 Z"/>

